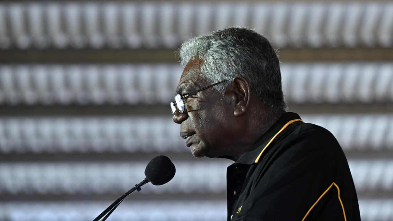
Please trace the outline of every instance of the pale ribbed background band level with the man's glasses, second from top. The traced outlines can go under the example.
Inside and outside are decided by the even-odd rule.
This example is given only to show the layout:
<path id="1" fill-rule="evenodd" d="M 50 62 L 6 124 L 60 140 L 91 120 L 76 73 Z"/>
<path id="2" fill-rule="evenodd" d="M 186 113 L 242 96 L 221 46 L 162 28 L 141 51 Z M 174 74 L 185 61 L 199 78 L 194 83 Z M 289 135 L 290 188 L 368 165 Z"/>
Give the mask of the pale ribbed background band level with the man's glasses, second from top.
<path id="1" fill-rule="evenodd" d="M 0 103 L 157 105 L 173 101 L 175 64 L 0 65 Z M 288 103 L 393 102 L 392 63 L 284 63 Z"/>

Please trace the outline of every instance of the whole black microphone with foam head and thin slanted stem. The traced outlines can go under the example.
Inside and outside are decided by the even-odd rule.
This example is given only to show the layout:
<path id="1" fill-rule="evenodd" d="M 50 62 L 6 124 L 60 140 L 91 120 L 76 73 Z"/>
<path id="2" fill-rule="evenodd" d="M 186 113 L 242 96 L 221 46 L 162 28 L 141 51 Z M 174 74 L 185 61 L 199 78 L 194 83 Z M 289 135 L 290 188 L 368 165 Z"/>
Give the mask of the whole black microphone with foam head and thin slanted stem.
<path id="1" fill-rule="evenodd" d="M 106 208 L 101 214 L 99 214 L 93 221 L 104 221 L 110 214 L 123 202 L 124 198 L 130 195 L 135 190 L 141 191 L 141 186 L 151 182 L 153 185 L 160 186 L 169 182 L 176 172 L 173 162 L 166 156 L 157 156 L 150 160 L 145 169 L 146 178 L 139 184 L 136 184 L 131 190 L 122 195 L 119 199 L 114 201 L 108 208 Z"/>

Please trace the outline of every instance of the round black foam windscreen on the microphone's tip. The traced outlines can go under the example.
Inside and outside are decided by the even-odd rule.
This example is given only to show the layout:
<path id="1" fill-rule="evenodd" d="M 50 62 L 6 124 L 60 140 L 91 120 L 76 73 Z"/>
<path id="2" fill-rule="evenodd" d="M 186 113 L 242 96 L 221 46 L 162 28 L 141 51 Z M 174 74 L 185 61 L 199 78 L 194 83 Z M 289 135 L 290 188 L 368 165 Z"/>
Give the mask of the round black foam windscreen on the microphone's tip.
<path id="1" fill-rule="evenodd" d="M 174 177 L 175 172 L 176 169 L 172 161 L 162 155 L 152 158 L 145 169 L 147 179 L 156 186 L 169 182 Z"/>

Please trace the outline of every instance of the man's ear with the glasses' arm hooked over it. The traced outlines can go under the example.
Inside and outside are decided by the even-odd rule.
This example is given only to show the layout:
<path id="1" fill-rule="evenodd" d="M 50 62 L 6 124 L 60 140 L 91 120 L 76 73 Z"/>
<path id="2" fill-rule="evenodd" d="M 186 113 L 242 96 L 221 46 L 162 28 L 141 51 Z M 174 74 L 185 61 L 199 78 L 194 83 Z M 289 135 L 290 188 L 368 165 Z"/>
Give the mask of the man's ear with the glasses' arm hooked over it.
<path id="1" fill-rule="evenodd" d="M 244 77 L 234 77 L 228 95 L 233 102 L 233 115 L 240 116 L 244 114 L 250 102 L 250 84 Z"/>

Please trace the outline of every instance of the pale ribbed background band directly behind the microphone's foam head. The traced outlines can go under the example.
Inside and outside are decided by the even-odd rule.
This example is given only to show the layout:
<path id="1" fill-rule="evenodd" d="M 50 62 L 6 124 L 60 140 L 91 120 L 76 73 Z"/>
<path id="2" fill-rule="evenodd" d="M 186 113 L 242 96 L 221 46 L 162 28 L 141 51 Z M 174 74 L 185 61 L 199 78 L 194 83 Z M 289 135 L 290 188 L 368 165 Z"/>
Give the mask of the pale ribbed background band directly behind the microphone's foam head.
<path id="1" fill-rule="evenodd" d="M 0 193 L 24 195 L 105 195 L 127 192 L 148 162 L 0 163 Z M 141 194 L 224 194 L 226 167 L 232 162 L 174 161 L 176 176 L 163 186 L 143 186 Z M 356 191 L 393 189 L 393 160 L 349 160 Z"/>

